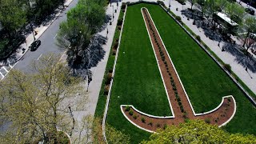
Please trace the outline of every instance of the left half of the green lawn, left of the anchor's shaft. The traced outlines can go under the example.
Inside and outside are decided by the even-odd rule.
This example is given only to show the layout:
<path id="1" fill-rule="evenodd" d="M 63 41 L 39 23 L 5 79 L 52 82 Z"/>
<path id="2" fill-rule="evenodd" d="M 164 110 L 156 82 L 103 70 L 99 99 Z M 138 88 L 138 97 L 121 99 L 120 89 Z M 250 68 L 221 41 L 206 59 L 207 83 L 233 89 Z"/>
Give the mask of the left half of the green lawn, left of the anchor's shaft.
<path id="1" fill-rule="evenodd" d="M 114 37 L 116 35 L 118 33 Z M 110 56 L 106 73 L 113 64 L 114 56 Z M 98 116 L 102 116 L 106 102 L 106 96 L 103 95 L 104 82 L 105 79 L 95 114 Z M 134 105 L 138 110 L 147 114 L 171 115 L 140 6 L 130 6 L 127 9 L 107 123 L 118 130 L 125 130 L 126 134 L 130 134 L 132 142 L 138 143 L 148 138 L 149 133 L 139 130 L 126 120 L 120 110 L 122 104 Z"/>

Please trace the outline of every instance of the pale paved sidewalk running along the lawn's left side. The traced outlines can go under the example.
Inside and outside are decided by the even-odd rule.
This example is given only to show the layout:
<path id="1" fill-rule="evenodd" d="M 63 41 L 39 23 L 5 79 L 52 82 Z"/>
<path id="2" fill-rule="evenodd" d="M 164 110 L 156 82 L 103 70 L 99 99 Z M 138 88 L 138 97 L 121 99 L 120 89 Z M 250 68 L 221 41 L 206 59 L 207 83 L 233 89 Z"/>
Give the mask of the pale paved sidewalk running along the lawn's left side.
<path id="1" fill-rule="evenodd" d="M 103 76 L 106 69 L 106 63 L 109 58 L 110 48 L 114 38 L 114 31 L 117 26 L 118 16 L 121 10 L 122 3 L 118 2 L 118 4 L 119 5 L 118 5 L 117 13 L 114 13 L 114 20 L 113 19 L 110 20 L 112 21 L 112 25 L 109 25 L 109 23 L 107 23 L 105 29 L 102 30 L 101 32 L 98 32 L 98 34 L 102 35 L 103 37 L 106 37 L 107 35 L 106 44 L 102 45 L 102 49 L 105 50 L 106 53 L 104 55 L 104 58 L 100 62 L 98 62 L 98 65 L 90 69 L 92 72 L 92 81 L 90 82 L 89 91 L 88 91 L 89 102 L 86 103 L 86 108 L 87 108 L 86 110 L 74 112 L 74 118 L 78 120 L 78 122 L 81 122 L 84 116 L 88 114 L 94 115 L 95 113 L 97 102 L 98 102 L 98 96 L 101 90 L 102 80 L 103 80 Z M 112 5 L 114 6 L 114 10 L 116 10 L 117 9 L 116 2 L 112 3 Z M 113 7 L 110 6 L 109 4 L 106 7 L 106 15 L 112 16 L 112 14 L 113 14 Z M 106 34 L 107 30 L 108 30 L 108 34 Z M 87 87 L 87 83 L 86 83 L 86 87 Z M 86 130 L 82 131 L 82 134 L 84 133 L 86 133 Z M 76 136 L 78 136 L 77 133 L 74 134 L 74 137 Z"/>

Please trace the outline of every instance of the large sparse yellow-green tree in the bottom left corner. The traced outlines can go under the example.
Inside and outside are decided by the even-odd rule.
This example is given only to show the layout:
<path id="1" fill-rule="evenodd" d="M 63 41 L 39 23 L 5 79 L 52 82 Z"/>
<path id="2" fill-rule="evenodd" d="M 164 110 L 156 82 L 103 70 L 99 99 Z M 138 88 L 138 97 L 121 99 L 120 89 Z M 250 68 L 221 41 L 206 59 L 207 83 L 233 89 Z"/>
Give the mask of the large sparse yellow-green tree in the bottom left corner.
<path id="1" fill-rule="evenodd" d="M 0 83 L 1 143 L 58 142 L 58 130 L 73 134 L 73 112 L 87 102 L 82 78 L 75 78 L 60 56 L 32 64 L 33 74 L 11 70 Z"/>

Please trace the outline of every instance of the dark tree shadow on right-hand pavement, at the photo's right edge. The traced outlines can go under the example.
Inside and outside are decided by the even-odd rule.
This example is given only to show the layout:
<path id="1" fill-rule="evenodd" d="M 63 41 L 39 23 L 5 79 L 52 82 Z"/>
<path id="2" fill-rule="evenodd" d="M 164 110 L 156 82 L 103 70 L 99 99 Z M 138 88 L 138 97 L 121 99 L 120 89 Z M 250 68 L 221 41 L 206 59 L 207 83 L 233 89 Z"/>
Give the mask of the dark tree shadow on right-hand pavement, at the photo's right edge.
<path id="1" fill-rule="evenodd" d="M 253 73 L 256 72 L 255 58 L 253 58 L 251 54 L 246 55 L 242 53 L 242 51 L 240 50 L 240 46 L 238 46 L 237 44 L 225 42 L 224 46 L 222 46 L 222 49 L 234 55 L 234 61 L 238 62 L 238 64 L 242 65 L 245 69 L 247 68 Z"/>

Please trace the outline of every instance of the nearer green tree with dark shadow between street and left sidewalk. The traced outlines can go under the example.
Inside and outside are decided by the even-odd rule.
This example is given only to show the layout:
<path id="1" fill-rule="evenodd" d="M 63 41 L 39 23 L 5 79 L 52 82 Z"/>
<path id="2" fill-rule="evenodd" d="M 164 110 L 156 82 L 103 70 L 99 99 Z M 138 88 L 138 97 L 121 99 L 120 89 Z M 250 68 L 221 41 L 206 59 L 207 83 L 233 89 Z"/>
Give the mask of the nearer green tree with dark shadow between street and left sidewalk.
<path id="1" fill-rule="evenodd" d="M 90 38 L 92 38 L 90 27 L 85 22 L 69 18 L 60 24 L 57 36 L 57 45 L 66 49 L 68 65 L 75 70 L 86 68 L 89 59 Z"/>

